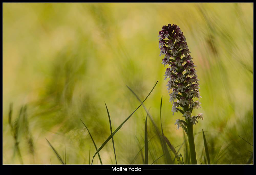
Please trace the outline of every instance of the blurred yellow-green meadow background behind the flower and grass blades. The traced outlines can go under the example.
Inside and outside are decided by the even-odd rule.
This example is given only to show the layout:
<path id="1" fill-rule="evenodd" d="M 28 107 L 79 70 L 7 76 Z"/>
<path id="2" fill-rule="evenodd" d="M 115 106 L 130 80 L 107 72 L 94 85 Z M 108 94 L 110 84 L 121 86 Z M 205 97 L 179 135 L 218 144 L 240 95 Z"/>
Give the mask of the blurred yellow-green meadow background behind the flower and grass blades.
<path id="1" fill-rule="evenodd" d="M 140 105 L 126 85 L 144 99 L 156 81 L 145 106 L 160 128 L 163 96 L 164 133 L 189 164 L 159 57 L 158 31 L 168 23 L 184 32 L 200 80 L 202 108 L 193 110 L 205 118 L 194 126 L 198 164 L 202 129 L 212 164 L 252 164 L 252 3 L 4 3 L 3 164 L 60 164 L 45 138 L 62 158 L 66 152 L 67 164 L 88 164 L 95 148 L 80 119 L 99 148 L 110 135 L 104 102 L 114 130 Z M 136 155 L 145 118 L 140 107 L 115 134 L 118 164 L 144 163 L 144 150 Z M 148 120 L 148 139 L 154 135 Z M 150 164 L 163 154 L 159 145 L 157 137 L 148 143 Z M 115 164 L 111 141 L 100 155 Z M 100 164 L 98 156 L 93 163 Z"/>

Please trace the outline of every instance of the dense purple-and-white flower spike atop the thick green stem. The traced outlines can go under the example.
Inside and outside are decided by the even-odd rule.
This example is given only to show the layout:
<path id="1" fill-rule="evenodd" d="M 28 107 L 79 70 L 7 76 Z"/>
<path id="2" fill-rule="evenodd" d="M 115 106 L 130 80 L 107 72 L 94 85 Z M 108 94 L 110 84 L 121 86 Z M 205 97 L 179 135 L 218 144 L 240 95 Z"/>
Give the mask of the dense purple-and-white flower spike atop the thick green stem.
<path id="1" fill-rule="evenodd" d="M 186 37 L 176 24 L 168 24 L 163 26 L 159 31 L 159 48 L 160 56 L 165 55 L 162 59 L 162 64 L 169 66 L 165 71 L 165 78 L 168 78 L 167 90 L 170 102 L 173 103 L 172 112 L 181 112 L 186 121 L 190 124 L 196 124 L 197 119 L 203 119 L 202 114 L 191 116 L 193 108 L 200 107 L 200 102 L 194 101 L 193 98 L 200 99 L 199 83 L 195 70 L 195 65 L 190 56 L 190 51 L 187 45 Z M 177 101 L 176 101 L 177 100 Z M 176 102 L 174 102 L 176 101 Z M 182 107 L 179 109 L 178 107 Z M 201 107 L 200 107 L 201 108 Z M 176 120 L 177 128 L 185 127 L 183 120 Z M 186 123 L 187 124 L 187 123 Z"/>

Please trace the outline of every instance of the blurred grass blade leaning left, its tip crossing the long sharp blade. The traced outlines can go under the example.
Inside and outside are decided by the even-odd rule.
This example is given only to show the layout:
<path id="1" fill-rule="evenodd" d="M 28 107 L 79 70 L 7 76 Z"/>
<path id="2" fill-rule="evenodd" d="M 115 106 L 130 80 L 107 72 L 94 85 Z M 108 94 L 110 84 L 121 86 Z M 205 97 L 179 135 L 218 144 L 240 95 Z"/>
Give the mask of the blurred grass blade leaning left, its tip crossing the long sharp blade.
<path id="1" fill-rule="evenodd" d="M 141 99 L 133 92 L 133 90 L 129 86 L 127 86 L 127 88 L 133 93 L 133 95 L 138 99 L 138 101 L 141 102 Z M 147 108 L 145 107 L 145 105 L 143 103 L 142 103 L 142 106 L 145 109 L 145 111 L 147 112 L 147 114 L 148 114 L 148 116 L 149 116 L 149 118 L 150 118 L 150 120 L 151 120 L 151 122 L 152 122 L 152 124 L 153 124 L 153 126 L 154 126 L 154 128 L 155 128 L 155 130 L 156 130 L 156 132 L 158 134 L 158 136 L 159 136 L 161 147 L 162 147 L 163 153 L 165 155 L 165 162 L 166 162 L 166 164 L 169 164 L 169 165 L 173 164 L 172 157 L 170 156 L 170 154 L 168 152 L 168 149 L 167 149 L 167 146 L 166 146 L 166 143 L 164 141 L 163 136 L 161 135 L 160 131 L 158 130 L 158 128 L 157 128 L 157 126 L 156 126 L 156 124 L 155 124 L 155 122 L 154 122 L 154 120 L 152 118 L 152 116 L 150 115 L 150 113 L 148 112 Z"/>

